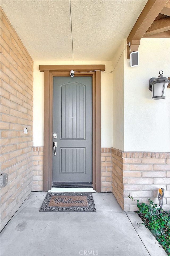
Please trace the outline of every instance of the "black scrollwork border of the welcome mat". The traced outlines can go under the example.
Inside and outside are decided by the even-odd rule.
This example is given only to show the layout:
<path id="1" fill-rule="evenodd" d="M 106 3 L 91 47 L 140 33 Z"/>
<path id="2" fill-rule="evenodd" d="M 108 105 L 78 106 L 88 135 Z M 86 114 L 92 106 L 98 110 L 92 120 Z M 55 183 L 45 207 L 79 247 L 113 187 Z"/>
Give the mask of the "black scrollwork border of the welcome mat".
<path id="1" fill-rule="evenodd" d="M 89 206 L 74 206 L 74 207 L 54 207 L 49 206 L 51 196 L 87 196 Z M 95 203 L 93 200 L 92 193 L 62 193 L 62 192 L 48 192 L 45 196 L 44 202 L 41 205 L 39 212 L 96 212 Z"/>

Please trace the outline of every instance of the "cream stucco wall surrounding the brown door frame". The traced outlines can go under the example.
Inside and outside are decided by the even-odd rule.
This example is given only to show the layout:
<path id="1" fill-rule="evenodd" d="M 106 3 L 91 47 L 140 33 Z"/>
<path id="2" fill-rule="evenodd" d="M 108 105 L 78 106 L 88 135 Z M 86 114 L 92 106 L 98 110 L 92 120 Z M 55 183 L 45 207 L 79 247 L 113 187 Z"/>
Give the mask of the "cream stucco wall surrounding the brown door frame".
<path id="1" fill-rule="evenodd" d="M 80 65 L 80 64 L 105 64 L 105 72 L 112 71 L 112 62 L 80 62 L 80 61 L 35 61 L 33 83 L 33 143 L 34 146 L 43 146 L 43 115 L 44 115 L 44 73 L 39 71 L 39 65 Z M 112 147 L 113 140 L 113 97 L 112 73 L 101 72 L 101 147 Z"/>

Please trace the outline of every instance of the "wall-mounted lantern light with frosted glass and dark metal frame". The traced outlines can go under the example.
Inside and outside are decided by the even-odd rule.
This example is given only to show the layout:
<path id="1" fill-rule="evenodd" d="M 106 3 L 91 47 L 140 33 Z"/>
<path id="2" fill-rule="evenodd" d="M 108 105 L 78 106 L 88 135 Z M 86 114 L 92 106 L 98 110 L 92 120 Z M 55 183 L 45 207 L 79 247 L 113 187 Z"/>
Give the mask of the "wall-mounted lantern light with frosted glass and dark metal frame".
<path id="1" fill-rule="evenodd" d="M 167 77 L 163 77 L 163 71 L 159 71 L 159 77 L 152 77 L 149 79 L 149 90 L 153 91 L 152 99 L 165 99 L 168 83 L 170 80 Z"/>

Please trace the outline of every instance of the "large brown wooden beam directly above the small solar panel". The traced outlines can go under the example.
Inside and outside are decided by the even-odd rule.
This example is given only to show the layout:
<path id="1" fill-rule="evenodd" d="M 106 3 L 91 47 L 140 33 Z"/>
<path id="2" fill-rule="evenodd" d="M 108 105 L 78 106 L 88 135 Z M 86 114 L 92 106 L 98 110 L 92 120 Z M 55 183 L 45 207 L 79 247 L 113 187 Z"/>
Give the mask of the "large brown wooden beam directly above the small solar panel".
<path id="1" fill-rule="evenodd" d="M 167 2 L 167 0 L 149 0 L 146 3 L 143 11 L 141 12 L 139 18 L 137 19 L 127 38 L 127 44 L 130 43 L 132 52 L 138 50 L 141 38 L 146 33 L 151 24 L 154 22 L 154 20 Z M 134 44 L 133 40 L 137 40 L 137 44 Z M 130 58 L 129 46 L 127 47 L 127 58 Z"/>

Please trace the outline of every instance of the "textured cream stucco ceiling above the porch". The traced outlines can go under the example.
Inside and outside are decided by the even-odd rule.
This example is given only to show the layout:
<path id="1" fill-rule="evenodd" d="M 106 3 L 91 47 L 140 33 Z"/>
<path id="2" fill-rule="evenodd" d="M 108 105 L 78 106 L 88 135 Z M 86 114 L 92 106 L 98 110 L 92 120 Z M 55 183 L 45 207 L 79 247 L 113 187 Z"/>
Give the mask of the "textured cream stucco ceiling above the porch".
<path id="1" fill-rule="evenodd" d="M 128 37 L 146 3 L 1 0 L 1 7 L 34 61 L 107 61 Z"/>

